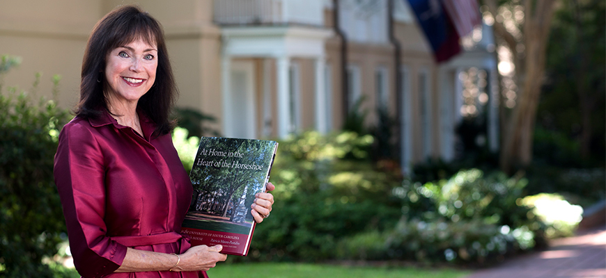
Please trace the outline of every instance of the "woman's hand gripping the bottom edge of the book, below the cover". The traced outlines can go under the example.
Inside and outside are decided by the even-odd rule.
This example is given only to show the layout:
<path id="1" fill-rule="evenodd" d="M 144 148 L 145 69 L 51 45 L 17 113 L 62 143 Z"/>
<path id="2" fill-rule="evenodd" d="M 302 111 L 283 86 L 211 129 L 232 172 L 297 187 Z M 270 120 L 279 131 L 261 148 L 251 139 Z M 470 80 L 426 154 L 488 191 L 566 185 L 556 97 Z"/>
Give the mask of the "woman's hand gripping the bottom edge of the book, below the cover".
<path id="1" fill-rule="evenodd" d="M 181 261 L 173 271 L 207 271 L 214 268 L 218 261 L 225 261 L 226 254 L 221 254 L 222 245 L 206 246 L 198 245 L 189 248 L 185 253 L 180 254 Z"/>

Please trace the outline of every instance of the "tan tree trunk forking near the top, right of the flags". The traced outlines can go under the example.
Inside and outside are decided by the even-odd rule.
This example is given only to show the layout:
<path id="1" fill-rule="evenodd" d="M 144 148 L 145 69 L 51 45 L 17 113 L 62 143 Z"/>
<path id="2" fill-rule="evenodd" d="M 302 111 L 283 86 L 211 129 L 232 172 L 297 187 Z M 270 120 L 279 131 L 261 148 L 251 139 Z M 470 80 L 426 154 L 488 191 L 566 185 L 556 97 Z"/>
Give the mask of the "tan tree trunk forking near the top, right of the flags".
<path id="1" fill-rule="evenodd" d="M 514 57 L 515 74 L 518 79 L 518 99 L 511 115 L 506 120 L 506 133 L 503 134 L 500 165 L 511 174 L 519 167 L 527 167 L 532 162 L 532 144 L 536 109 L 541 95 L 545 72 L 545 49 L 550 31 L 554 9 L 554 0 L 531 1 L 522 3 L 525 22 L 522 27 L 522 41 L 508 33 L 501 22 L 495 22 L 495 35 L 499 36 Z M 496 1 L 486 1 L 494 17 L 497 16 Z M 523 54 L 518 53 L 518 43 L 525 47 Z"/>

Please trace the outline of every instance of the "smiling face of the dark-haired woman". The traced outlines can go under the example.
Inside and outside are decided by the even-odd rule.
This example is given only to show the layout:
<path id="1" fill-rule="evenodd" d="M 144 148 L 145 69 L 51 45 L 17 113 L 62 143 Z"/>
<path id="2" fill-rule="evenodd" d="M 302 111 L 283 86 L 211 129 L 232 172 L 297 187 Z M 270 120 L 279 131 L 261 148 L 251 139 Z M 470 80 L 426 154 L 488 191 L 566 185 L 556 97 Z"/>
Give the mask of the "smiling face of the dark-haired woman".
<path id="1" fill-rule="evenodd" d="M 105 79 L 111 101 L 137 102 L 151 88 L 158 66 L 156 45 L 135 40 L 109 52 Z"/>

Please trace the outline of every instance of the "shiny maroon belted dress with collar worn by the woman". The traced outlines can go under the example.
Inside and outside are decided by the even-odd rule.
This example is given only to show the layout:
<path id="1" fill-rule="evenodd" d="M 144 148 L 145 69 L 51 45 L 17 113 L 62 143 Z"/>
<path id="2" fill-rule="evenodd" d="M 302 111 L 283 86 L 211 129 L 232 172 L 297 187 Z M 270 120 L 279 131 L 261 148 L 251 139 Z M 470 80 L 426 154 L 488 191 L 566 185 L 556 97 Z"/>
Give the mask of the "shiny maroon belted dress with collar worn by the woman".
<path id="1" fill-rule="evenodd" d="M 82 277 L 207 277 L 205 272 L 113 273 L 127 247 L 182 254 L 180 234 L 192 183 L 170 134 L 150 138 L 153 122 L 139 114 L 143 137 L 109 113 L 75 117 L 61 130 L 54 177 L 70 250 Z"/>

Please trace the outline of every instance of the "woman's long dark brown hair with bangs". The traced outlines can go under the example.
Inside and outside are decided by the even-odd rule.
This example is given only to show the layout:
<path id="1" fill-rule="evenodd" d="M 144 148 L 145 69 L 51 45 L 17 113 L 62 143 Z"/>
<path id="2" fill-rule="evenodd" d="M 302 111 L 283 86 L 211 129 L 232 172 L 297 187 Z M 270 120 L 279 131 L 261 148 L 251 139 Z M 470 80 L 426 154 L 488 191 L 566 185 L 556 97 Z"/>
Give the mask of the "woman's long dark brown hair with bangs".
<path id="1" fill-rule="evenodd" d="M 173 129 L 174 122 L 169 120 L 169 115 L 178 90 L 162 26 L 137 6 L 118 7 L 105 15 L 93 28 L 84 51 L 80 101 L 75 113 L 80 117 L 96 118 L 102 114 L 103 109 L 107 110 L 103 90 L 106 84 L 105 58 L 116 47 L 139 39 L 150 45 L 156 44 L 158 51 L 155 82 L 137 104 L 137 108 L 156 124 L 154 133 L 158 136 Z"/>

